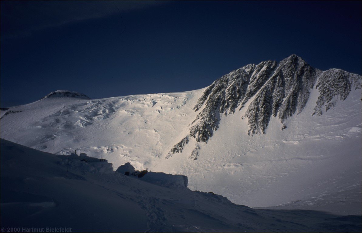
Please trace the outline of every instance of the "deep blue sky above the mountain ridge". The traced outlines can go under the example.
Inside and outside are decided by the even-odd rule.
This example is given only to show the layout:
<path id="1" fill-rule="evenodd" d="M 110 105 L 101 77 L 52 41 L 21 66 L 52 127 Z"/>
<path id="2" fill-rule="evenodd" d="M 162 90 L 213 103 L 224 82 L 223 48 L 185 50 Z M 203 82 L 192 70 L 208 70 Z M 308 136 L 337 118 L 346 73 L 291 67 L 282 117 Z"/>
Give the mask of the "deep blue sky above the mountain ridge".
<path id="1" fill-rule="evenodd" d="M 361 1 L 0 4 L 1 107 L 58 89 L 90 98 L 195 90 L 291 54 L 361 74 Z"/>

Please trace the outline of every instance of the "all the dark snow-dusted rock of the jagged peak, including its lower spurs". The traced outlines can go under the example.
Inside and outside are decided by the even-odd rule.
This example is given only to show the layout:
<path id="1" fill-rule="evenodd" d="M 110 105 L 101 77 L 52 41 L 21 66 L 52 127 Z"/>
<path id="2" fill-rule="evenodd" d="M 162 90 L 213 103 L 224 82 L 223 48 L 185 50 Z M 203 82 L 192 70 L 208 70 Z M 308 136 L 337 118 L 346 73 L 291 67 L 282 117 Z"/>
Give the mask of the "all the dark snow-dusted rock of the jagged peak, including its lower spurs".
<path id="1" fill-rule="evenodd" d="M 219 127 L 220 116 L 233 114 L 237 108 L 243 109 L 252 97 L 254 99 L 245 112 L 248 135 L 265 134 L 271 116 L 278 116 L 280 122 L 284 123 L 287 118 L 303 110 L 318 77 L 316 88 L 320 96 L 313 115 L 321 115 L 324 105 L 326 110 L 334 107 L 337 102 L 333 98 L 335 96 L 344 101 L 352 86 L 361 88 L 361 76 L 340 69 L 322 72 L 295 54 L 280 63 L 266 61 L 258 65 L 245 65 L 224 75 L 205 90 L 194 107 L 195 111 L 201 111 L 189 125 L 189 136 L 197 142 L 207 143 Z M 281 130 L 286 128 L 283 124 Z M 176 144 L 167 158 L 173 153 L 182 152 L 188 141 L 182 140 Z M 189 158 L 197 159 L 198 150 L 197 146 Z"/>

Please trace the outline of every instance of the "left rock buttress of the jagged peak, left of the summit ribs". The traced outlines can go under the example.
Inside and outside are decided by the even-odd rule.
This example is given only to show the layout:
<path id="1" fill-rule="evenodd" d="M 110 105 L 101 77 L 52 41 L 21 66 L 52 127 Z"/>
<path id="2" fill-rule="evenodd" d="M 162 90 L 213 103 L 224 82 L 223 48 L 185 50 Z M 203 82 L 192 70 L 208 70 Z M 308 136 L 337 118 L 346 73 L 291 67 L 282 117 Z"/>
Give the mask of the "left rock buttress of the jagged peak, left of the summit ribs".
<path id="1" fill-rule="evenodd" d="M 198 142 L 207 143 L 212 132 L 218 129 L 220 113 L 232 114 L 240 104 L 244 105 L 265 83 L 275 67 L 277 62 L 273 61 L 246 65 L 211 84 L 194 107 L 198 111 L 205 105 L 191 123 L 190 136 Z"/>

